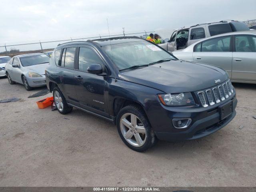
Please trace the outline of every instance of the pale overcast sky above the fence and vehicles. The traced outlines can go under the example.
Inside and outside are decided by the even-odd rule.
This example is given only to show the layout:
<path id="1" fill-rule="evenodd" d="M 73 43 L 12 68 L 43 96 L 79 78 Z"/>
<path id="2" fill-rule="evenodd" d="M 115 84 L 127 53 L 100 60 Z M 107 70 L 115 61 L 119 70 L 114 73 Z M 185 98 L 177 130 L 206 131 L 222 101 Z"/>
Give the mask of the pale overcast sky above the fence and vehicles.
<path id="1" fill-rule="evenodd" d="M 0 0 L 0 44 L 256 19 L 256 0 Z"/>

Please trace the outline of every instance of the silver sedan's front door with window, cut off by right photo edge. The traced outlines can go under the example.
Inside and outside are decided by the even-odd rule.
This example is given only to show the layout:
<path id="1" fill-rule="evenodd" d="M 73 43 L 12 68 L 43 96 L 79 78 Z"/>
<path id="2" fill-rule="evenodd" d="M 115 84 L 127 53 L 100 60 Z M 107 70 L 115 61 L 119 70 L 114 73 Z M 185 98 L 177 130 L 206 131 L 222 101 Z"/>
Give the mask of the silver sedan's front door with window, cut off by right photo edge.
<path id="1" fill-rule="evenodd" d="M 236 35 L 232 60 L 232 79 L 256 81 L 256 36 Z"/>

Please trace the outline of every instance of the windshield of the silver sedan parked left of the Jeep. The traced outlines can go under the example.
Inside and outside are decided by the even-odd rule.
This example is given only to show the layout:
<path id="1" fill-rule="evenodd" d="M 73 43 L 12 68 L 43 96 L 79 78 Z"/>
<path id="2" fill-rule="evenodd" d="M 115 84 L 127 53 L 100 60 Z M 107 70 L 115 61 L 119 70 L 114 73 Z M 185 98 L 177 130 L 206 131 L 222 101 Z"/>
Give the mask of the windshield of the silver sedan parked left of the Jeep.
<path id="1" fill-rule="evenodd" d="M 45 54 L 20 57 L 20 62 L 24 67 L 48 63 L 49 60 L 50 58 Z"/>

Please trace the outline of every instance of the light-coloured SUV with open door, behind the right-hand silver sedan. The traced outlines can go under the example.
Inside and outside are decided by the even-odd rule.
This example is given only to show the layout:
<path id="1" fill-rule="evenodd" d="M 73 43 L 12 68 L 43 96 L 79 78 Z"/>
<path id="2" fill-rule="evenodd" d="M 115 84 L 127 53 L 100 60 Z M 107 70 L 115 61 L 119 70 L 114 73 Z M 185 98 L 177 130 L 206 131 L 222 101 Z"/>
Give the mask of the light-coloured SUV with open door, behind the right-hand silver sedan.
<path id="1" fill-rule="evenodd" d="M 245 23 L 234 20 L 197 24 L 189 28 L 174 30 L 171 38 L 164 40 L 164 43 L 160 44 L 159 46 L 169 52 L 172 52 L 175 50 L 184 49 L 187 46 L 210 36 L 246 30 L 250 29 Z"/>

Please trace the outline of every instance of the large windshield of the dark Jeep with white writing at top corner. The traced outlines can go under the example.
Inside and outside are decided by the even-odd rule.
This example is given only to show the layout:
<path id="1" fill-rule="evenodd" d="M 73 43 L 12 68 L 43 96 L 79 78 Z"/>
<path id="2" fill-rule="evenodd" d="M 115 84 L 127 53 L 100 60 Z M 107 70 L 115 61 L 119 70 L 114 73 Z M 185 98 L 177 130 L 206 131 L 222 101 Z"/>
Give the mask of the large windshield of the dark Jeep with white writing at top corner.
<path id="1" fill-rule="evenodd" d="M 102 49 L 120 70 L 136 65 L 147 65 L 166 58 L 176 60 L 171 54 L 144 40 L 112 44 L 111 47 L 106 45 Z"/>

